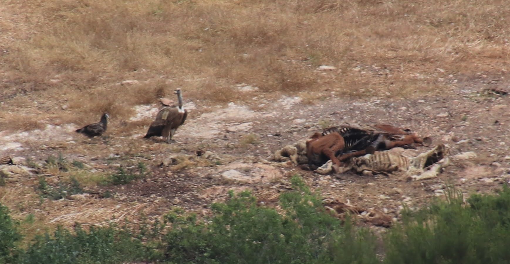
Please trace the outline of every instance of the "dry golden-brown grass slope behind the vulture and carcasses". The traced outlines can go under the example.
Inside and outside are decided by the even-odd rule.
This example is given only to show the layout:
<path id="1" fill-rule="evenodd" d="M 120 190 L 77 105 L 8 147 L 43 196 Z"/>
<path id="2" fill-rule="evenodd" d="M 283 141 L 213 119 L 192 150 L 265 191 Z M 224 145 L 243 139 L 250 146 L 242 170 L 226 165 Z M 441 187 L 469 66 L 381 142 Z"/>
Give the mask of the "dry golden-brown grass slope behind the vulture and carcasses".
<path id="1" fill-rule="evenodd" d="M 449 74 L 504 74 L 510 55 L 503 1 L 3 4 L 0 31 L 9 35 L 0 40 L 0 125 L 13 129 L 60 115 L 80 123 L 102 112 L 125 119 L 133 105 L 172 98 L 176 87 L 201 104 L 251 100 L 233 88 L 240 83 L 268 95 L 304 91 L 306 103 L 324 92 L 422 96 L 444 92 L 438 80 Z M 21 121 L 6 117 L 14 110 Z"/>

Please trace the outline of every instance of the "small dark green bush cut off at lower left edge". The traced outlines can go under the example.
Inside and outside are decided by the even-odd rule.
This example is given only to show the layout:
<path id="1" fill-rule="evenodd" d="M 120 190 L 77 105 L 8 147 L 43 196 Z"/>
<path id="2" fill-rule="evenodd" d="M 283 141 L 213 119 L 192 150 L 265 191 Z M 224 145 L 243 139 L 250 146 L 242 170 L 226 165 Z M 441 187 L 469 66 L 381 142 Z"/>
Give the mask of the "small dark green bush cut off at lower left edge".
<path id="1" fill-rule="evenodd" d="M 12 262 L 16 258 L 16 245 L 21 239 L 18 225 L 11 219 L 9 208 L 0 203 L 0 263 Z"/>

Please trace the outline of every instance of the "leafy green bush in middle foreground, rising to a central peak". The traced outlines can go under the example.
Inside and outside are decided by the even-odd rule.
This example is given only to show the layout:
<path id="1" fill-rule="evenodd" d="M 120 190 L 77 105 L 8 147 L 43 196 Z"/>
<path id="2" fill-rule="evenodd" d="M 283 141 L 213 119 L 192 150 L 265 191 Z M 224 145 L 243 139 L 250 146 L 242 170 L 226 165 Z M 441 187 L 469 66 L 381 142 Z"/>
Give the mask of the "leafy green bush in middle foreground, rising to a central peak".
<path id="1" fill-rule="evenodd" d="M 293 178 L 297 191 L 282 195 L 283 214 L 257 206 L 247 192 L 213 205 L 213 216 L 198 221 L 182 212 L 168 214 L 172 229 L 163 242 L 165 261 L 172 263 L 375 263 L 369 233 L 354 233 L 323 210 L 321 201 Z M 366 240 L 370 241 L 370 239 Z M 337 258 L 337 256 L 348 256 Z M 357 260 L 357 261 L 353 261 Z"/>

